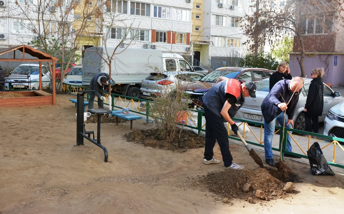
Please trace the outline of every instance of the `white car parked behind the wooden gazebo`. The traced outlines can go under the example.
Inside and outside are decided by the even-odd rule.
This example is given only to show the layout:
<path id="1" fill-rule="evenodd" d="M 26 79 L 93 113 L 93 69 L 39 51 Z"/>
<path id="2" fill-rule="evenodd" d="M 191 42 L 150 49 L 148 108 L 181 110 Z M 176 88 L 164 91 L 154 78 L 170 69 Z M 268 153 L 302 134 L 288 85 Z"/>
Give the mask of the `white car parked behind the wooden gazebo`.
<path id="1" fill-rule="evenodd" d="M 17 74 L 28 74 L 29 79 L 16 79 Z M 35 90 L 39 88 L 40 81 L 39 64 L 21 64 L 11 72 L 11 75 L 6 79 L 6 82 L 11 82 L 12 89 L 30 89 Z M 21 81 L 31 81 L 31 83 L 20 83 Z M 42 88 L 50 87 L 50 72 L 47 67 L 42 65 Z M 9 84 L 5 84 L 5 88 L 9 89 Z"/>

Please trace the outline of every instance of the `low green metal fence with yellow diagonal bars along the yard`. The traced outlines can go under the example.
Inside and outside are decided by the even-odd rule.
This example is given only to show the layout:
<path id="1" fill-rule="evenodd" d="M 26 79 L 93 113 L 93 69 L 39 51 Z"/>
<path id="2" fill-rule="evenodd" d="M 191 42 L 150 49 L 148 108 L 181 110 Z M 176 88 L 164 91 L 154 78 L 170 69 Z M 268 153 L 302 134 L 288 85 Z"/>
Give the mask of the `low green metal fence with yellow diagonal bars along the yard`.
<path id="1" fill-rule="evenodd" d="M 78 90 L 86 90 L 86 89 L 89 89 L 87 87 L 82 87 L 82 86 L 75 86 L 75 85 L 71 85 L 71 84 L 63 84 L 63 90 L 69 94 L 73 94 L 73 95 L 76 95 L 77 91 Z M 105 93 L 107 96 L 108 96 L 108 93 Z M 105 95 L 105 96 L 106 96 Z M 122 109 L 124 106 L 128 107 L 129 105 L 131 105 L 131 108 L 129 108 L 129 111 L 133 112 L 133 113 L 137 113 L 137 114 L 140 114 L 140 115 L 144 115 L 146 116 L 146 121 L 149 122 L 149 110 L 151 108 L 151 104 L 153 104 L 153 101 L 150 101 L 150 100 L 144 100 L 144 99 L 139 99 L 139 98 L 133 98 L 133 97 L 128 97 L 128 96 L 123 96 L 123 95 L 119 95 L 119 94 L 111 94 L 112 96 L 112 103 L 111 103 L 111 109 L 114 110 L 114 108 L 120 108 Z M 89 99 L 89 95 L 87 94 L 87 97 L 85 97 L 85 99 Z M 97 100 L 95 100 L 97 101 Z M 124 101 L 124 103 L 123 103 Z M 133 103 L 135 102 L 138 102 L 139 106 L 140 107 L 140 102 L 146 102 L 146 111 L 143 111 L 143 107 L 142 109 L 140 110 L 140 108 L 133 108 Z M 122 104 L 122 105 L 121 105 Z M 128 105 L 127 105 L 128 104 Z M 104 105 L 109 105 L 107 103 L 104 102 Z M 136 103 L 135 103 L 135 106 L 136 106 Z M 130 107 L 130 106 L 129 106 Z M 187 125 L 187 124 L 182 124 L 182 123 L 179 123 L 180 125 L 184 126 L 184 127 L 188 127 L 188 128 L 192 128 L 192 129 L 196 129 L 198 131 L 198 135 L 201 134 L 202 131 L 205 132 L 205 129 L 203 129 L 203 127 L 205 125 L 203 125 L 202 127 L 202 118 L 204 116 L 204 112 L 203 111 L 198 111 L 198 110 L 190 110 L 190 111 L 193 111 L 195 113 L 197 113 L 197 124 L 194 122 L 194 125 L 195 126 L 192 126 L 192 124 L 190 125 Z M 190 114 L 189 114 L 190 115 Z M 191 117 L 191 116 L 190 116 Z M 243 123 L 250 123 L 250 124 L 255 124 L 255 125 L 258 125 L 261 127 L 261 129 L 263 129 L 263 126 L 264 126 L 264 123 L 262 122 L 255 122 L 255 121 L 250 121 L 250 120 L 245 120 L 245 119 L 239 119 L 239 118 L 233 118 L 233 120 L 236 120 L 236 121 L 240 121 L 240 122 L 243 122 Z M 247 125 L 248 126 L 248 125 Z M 248 127 L 249 128 L 249 127 Z M 277 129 L 280 129 L 282 130 L 283 127 L 280 127 L 280 126 L 276 126 Z M 244 124 L 244 132 L 245 132 L 245 124 Z M 331 145 L 332 143 L 334 143 L 334 153 L 333 153 L 333 161 L 330 162 L 330 161 L 327 161 L 327 163 L 329 165 L 333 165 L 335 167 L 339 167 L 339 168 L 342 168 L 344 169 L 344 165 L 342 164 L 338 164 L 338 163 L 335 163 L 335 154 L 336 154 L 336 146 L 340 147 L 343 151 L 344 151 L 344 148 L 340 145 L 340 143 L 338 141 L 341 141 L 341 142 L 344 142 L 344 139 L 342 138 L 337 138 L 337 137 L 331 137 L 331 136 L 325 136 L 325 135 L 321 135 L 321 134 L 316 134 L 316 133 L 312 133 L 312 132 L 307 132 L 307 131 L 301 131 L 301 130 L 297 130 L 297 129 L 290 129 L 290 128 L 284 128 L 284 139 L 283 139 L 283 147 L 282 147 L 282 159 L 284 159 L 284 154 L 293 154 L 294 156 L 298 156 L 298 157 L 302 157 L 302 158 L 307 158 L 307 155 L 305 154 L 306 152 L 304 152 L 302 150 L 302 148 L 299 146 L 299 144 L 295 141 L 295 143 L 300 147 L 300 149 L 304 152 L 303 154 L 299 154 L 299 153 L 295 153 L 295 152 L 289 152 L 286 150 L 286 145 L 287 145 L 287 135 L 289 135 L 290 133 L 288 132 L 293 132 L 293 133 L 301 133 L 301 134 L 305 134 L 305 135 L 312 135 L 312 136 L 316 136 L 316 137 L 321 137 L 321 138 L 326 138 L 326 139 L 329 139 L 331 140 L 332 142 L 330 142 L 328 145 L 326 145 L 325 147 L 323 147 L 322 149 L 326 148 L 327 146 Z M 291 134 L 290 134 L 291 135 Z M 256 136 L 255 136 L 256 137 Z M 233 137 L 233 136 L 230 136 L 229 133 L 228 133 L 228 138 L 229 139 L 232 139 L 232 140 L 236 140 L 236 141 L 240 141 L 241 140 L 237 137 Z M 244 135 L 244 138 L 245 138 L 245 135 Z M 278 148 L 275 148 L 275 147 L 272 147 L 272 150 L 275 150 L 275 151 L 279 151 L 280 152 L 280 149 L 281 149 L 281 141 L 282 141 L 282 138 L 283 136 L 280 135 L 280 143 L 279 143 L 279 147 Z M 293 138 L 293 137 L 292 137 Z M 294 138 L 293 138 L 294 140 Z M 259 146 L 259 147 L 262 147 L 264 148 L 264 145 L 262 145 L 262 142 L 260 143 L 255 143 L 255 142 L 252 142 L 252 141 L 248 141 L 246 140 L 246 142 L 248 144 L 251 144 L 251 145 L 255 145 L 255 146 Z M 308 143 L 308 148 L 310 146 L 310 138 L 309 138 L 309 143 Z"/>

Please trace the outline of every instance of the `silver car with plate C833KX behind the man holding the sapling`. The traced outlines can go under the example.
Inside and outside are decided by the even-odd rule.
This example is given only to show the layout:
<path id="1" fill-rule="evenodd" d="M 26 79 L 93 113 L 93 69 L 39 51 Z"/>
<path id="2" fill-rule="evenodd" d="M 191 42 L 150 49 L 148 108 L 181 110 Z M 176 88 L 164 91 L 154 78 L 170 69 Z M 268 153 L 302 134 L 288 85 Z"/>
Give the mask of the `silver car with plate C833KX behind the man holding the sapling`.
<path id="1" fill-rule="evenodd" d="M 302 88 L 302 92 L 299 96 L 299 102 L 296 107 L 295 115 L 293 118 L 294 121 L 294 129 L 298 130 L 305 130 L 305 119 L 303 109 L 306 104 L 307 94 L 309 89 L 309 84 L 311 83 L 312 79 L 306 79 L 304 81 L 304 85 Z M 236 118 L 247 119 L 255 122 L 264 122 L 264 117 L 261 114 L 261 104 L 265 99 L 266 95 L 269 93 L 269 78 L 263 79 L 256 83 L 257 91 L 256 91 L 256 98 L 246 97 L 245 103 L 243 107 L 241 107 L 237 114 L 235 115 Z M 330 87 L 324 84 L 324 110 L 322 116 L 319 116 L 319 122 L 325 120 L 327 112 L 333 106 L 337 105 L 344 101 L 344 97 L 341 97 L 340 93 L 334 92 Z"/>

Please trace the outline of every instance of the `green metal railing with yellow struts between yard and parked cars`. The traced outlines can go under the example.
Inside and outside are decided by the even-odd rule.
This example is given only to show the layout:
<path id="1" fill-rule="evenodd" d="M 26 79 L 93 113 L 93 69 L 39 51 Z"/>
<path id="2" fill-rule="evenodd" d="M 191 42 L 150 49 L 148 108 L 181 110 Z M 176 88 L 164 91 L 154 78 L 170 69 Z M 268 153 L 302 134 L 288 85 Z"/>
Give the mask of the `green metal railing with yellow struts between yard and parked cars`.
<path id="1" fill-rule="evenodd" d="M 88 88 L 82 87 L 82 86 L 69 85 L 69 84 L 64 84 L 63 85 L 63 90 L 65 92 L 67 92 L 69 94 L 73 94 L 73 95 L 76 95 L 78 90 L 85 90 L 85 89 L 88 89 Z M 149 122 L 149 110 L 152 108 L 152 105 L 154 104 L 153 101 L 139 99 L 139 98 L 133 98 L 133 97 L 128 97 L 128 96 L 123 96 L 123 95 L 118 95 L 118 94 L 111 94 L 111 95 L 112 95 L 112 99 L 111 99 L 112 100 L 112 103 L 111 103 L 111 109 L 112 110 L 114 110 L 114 108 L 122 109 L 123 107 L 126 107 L 126 108 L 129 108 L 129 111 L 131 111 L 133 113 L 137 113 L 137 114 L 146 116 L 146 121 Z M 105 97 L 107 99 L 104 102 L 104 105 L 109 105 L 107 103 L 108 102 L 108 93 L 105 93 Z M 87 98 L 85 98 L 85 99 L 88 100 L 88 98 L 89 97 L 87 96 Z M 142 102 L 146 102 L 146 103 L 144 103 L 142 105 L 142 107 L 140 107 Z M 144 107 L 146 107 L 146 109 L 144 109 Z M 195 116 L 197 115 L 197 121 L 196 122 L 192 118 L 192 116 L 190 114 L 191 112 Z M 203 124 L 203 116 L 204 116 L 204 111 L 190 110 L 189 112 L 186 112 L 185 118 L 183 118 L 183 121 L 179 121 L 178 124 L 183 126 L 183 127 L 188 127 L 188 128 L 191 128 L 191 129 L 195 129 L 195 130 L 197 130 L 198 135 L 200 135 L 202 131 L 205 131 L 205 129 L 204 129 L 205 124 Z M 188 124 L 188 122 L 187 122 L 188 118 L 190 118 L 190 121 L 191 121 L 190 124 Z M 247 127 L 252 132 L 252 135 L 254 136 L 254 138 L 257 140 L 257 142 L 252 142 L 252 141 L 246 140 L 246 142 L 248 144 L 264 148 L 264 145 L 263 145 L 264 141 L 262 141 L 264 123 L 250 121 L 250 120 L 245 120 L 245 119 L 239 119 L 239 118 L 233 118 L 233 120 L 241 122 L 239 127 L 243 126 L 243 130 L 244 130 L 243 138 L 245 138 L 245 129 Z M 251 127 L 248 125 L 248 123 L 258 125 L 260 127 L 260 135 L 259 134 L 256 135 L 254 133 L 254 131 L 251 129 Z M 275 133 L 277 133 L 279 130 L 283 129 L 283 127 L 280 127 L 280 126 L 276 126 L 276 128 L 278 130 Z M 229 124 L 228 124 L 228 129 L 227 130 L 229 130 Z M 280 152 L 280 150 L 282 149 L 282 159 L 284 159 L 284 154 L 293 154 L 294 156 L 298 156 L 298 157 L 302 157 L 302 158 L 308 159 L 306 152 L 301 148 L 301 146 L 297 142 L 297 140 L 290 134 L 291 131 L 293 133 L 297 132 L 297 133 L 301 133 L 301 134 L 305 134 L 305 135 L 309 135 L 309 136 L 312 135 L 312 136 L 315 136 L 315 137 L 321 137 L 321 138 L 326 138 L 326 139 L 331 140 L 332 142 L 328 143 L 326 146 L 321 148 L 321 149 L 325 149 L 325 148 L 327 148 L 328 146 L 330 146 L 330 145 L 332 145 L 334 143 L 334 151 L 333 151 L 332 162 L 327 161 L 327 163 L 329 165 L 333 165 L 335 167 L 339 167 L 339 168 L 344 169 L 344 165 L 343 164 L 335 163 L 335 156 L 336 156 L 337 146 L 344 151 L 344 148 L 342 147 L 342 145 L 340 145 L 340 143 L 338 141 L 344 142 L 344 139 L 337 138 L 337 137 L 331 137 L 331 136 L 325 136 L 325 135 L 316 134 L 316 133 L 307 132 L 307 131 L 301 131 L 301 130 L 297 130 L 297 129 L 291 129 L 291 128 L 287 128 L 287 127 L 284 128 L 283 147 L 281 148 L 281 141 L 282 141 L 283 135 L 280 135 L 279 147 L 278 148 L 272 147 L 272 150 L 278 151 L 278 152 Z M 228 138 L 241 142 L 240 138 L 237 138 L 237 137 L 234 137 L 234 136 L 230 136 L 230 134 L 232 132 L 228 131 Z M 286 145 L 287 145 L 287 135 L 291 136 L 291 139 L 301 149 L 302 154 L 299 154 L 299 153 L 296 153 L 296 152 L 287 151 L 287 148 L 286 148 Z M 311 137 L 308 137 L 308 149 L 310 147 L 310 143 L 311 143 Z"/>

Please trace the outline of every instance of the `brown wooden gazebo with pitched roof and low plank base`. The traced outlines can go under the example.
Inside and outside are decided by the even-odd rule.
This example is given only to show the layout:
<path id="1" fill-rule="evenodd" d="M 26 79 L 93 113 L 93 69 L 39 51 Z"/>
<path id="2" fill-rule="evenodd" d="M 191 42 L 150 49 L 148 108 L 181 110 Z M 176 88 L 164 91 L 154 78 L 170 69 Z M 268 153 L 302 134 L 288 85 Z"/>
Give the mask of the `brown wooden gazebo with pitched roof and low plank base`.
<path id="1" fill-rule="evenodd" d="M 15 50 L 23 52 L 23 58 L 15 58 Z M 37 107 L 44 105 L 56 105 L 56 83 L 55 83 L 55 62 L 56 57 L 50 56 L 28 45 L 20 45 L 0 51 L 0 55 L 13 51 L 13 59 L 0 58 L 3 61 L 39 62 L 39 90 L 0 91 L 0 107 Z M 25 53 L 37 59 L 25 59 Z M 21 55 L 21 54 L 20 54 Z M 53 95 L 42 91 L 42 62 L 52 62 L 53 72 L 51 75 Z M 1 81 L 1 80 L 0 80 Z M 8 82 L 7 82 L 8 83 Z M 30 86 L 29 86 L 30 87 Z M 30 88 L 29 88 L 30 89 Z M 21 96 L 11 96 L 14 93 L 21 93 Z"/>

